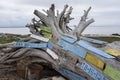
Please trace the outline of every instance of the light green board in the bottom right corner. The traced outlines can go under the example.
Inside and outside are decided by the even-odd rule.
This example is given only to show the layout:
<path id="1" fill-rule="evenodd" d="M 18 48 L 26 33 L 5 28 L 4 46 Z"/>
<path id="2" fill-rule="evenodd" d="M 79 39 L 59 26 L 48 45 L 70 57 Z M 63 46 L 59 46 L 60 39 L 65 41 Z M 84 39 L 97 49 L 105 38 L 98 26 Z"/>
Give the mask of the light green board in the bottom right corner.
<path id="1" fill-rule="evenodd" d="M 109 65 L 106 65 L 104 73 L 109 77 L 111 77 L 113 80 L 120 80 L 120 71 L 112 68 Z"/>

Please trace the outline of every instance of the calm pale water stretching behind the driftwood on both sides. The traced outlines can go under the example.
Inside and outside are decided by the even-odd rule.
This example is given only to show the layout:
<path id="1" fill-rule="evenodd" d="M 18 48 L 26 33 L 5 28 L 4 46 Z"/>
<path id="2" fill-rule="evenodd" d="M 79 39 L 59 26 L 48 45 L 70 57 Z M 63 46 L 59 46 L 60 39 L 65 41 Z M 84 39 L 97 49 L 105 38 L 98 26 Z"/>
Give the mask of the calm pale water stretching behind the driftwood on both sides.
<path id="1" fill-rule="evenodd" d="M 28 28 L 0 28 L 0 33 L 30 34 Z M 120 27 L 87 27 L 83 34 L 120 34 Z"/>

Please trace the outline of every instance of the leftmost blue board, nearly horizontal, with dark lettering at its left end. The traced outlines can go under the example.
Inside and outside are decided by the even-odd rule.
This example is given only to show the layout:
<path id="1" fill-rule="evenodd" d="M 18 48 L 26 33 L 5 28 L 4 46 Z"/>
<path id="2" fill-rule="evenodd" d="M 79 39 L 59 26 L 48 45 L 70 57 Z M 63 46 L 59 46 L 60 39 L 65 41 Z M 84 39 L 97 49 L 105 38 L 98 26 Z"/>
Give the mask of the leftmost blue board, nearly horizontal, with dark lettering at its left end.
<path id="1" fill-rule="evenodd" d="M 28 48 L 46 48 L 47 43 L 29 43 L 29 42 L 16 42 L 16 47 L 28 47 Z"/>

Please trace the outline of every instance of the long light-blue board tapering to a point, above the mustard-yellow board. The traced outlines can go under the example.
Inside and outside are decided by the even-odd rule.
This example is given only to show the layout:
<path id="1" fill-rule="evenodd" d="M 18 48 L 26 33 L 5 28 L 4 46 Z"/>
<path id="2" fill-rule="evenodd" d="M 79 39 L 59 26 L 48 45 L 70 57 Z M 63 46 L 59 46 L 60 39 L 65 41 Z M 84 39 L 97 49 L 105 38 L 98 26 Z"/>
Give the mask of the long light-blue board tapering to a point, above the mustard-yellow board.
<path id="1" fill-rule="evenodd" d="M 89 50 L 89 51 L 92 51 L 92 52 L 95 53 L 95 54 L 101 55 L 101 56 L 103 56 L 103 57 L 105 57 L 105 58 L 115 58 L 114 56 L 111 56 L 111 55 L 105 53 L 105 52 L 102 51 L 102 50 L 99 50 L 99 49 L 97 49 L 97 48 L 95 48 L 95 47 L 93 47 L 93 46 L 91 46 L 91 45 L 88 45 L 88 44 L 85 43 L 83 40 L 78 41 L 77 44 L 78 44 L 79 46 L 84 47 L 85 49 L 87 49 L 87 50 Z"/>

